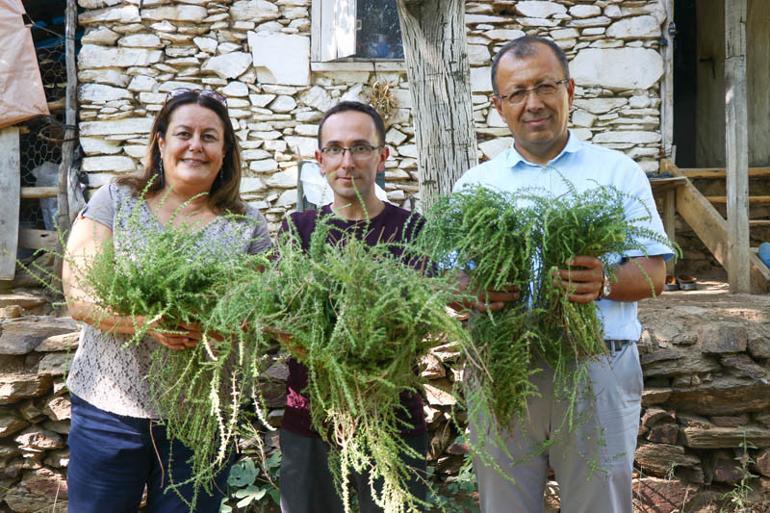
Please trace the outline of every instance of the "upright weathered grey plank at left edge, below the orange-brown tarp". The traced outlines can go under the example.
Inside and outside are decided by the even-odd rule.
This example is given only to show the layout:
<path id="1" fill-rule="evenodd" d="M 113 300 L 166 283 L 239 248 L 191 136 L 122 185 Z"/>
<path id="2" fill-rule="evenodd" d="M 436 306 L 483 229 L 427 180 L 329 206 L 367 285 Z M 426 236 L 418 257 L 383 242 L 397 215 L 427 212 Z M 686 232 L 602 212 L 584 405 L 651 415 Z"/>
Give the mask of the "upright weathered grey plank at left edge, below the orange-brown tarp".
<path id="1" fill-rule="evenodd" d="M 19 129 L 0 130 L 0 280 L 16 275 L 19 242 Z"/>

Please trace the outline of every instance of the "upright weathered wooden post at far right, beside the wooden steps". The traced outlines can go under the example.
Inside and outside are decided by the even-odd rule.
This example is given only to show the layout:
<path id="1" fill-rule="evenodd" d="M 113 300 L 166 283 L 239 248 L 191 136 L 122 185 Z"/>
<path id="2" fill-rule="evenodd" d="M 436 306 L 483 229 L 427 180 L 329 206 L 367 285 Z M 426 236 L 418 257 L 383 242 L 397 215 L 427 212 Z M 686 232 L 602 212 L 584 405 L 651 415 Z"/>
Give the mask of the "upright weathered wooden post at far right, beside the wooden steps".
<path id="1" fill-rule="evenodd" d="M 749 145 L 746 94 L 747 0 L 725 0 L 725 144 L 727 156 L 727 277 L 730 292 L 751 291 Z"/>

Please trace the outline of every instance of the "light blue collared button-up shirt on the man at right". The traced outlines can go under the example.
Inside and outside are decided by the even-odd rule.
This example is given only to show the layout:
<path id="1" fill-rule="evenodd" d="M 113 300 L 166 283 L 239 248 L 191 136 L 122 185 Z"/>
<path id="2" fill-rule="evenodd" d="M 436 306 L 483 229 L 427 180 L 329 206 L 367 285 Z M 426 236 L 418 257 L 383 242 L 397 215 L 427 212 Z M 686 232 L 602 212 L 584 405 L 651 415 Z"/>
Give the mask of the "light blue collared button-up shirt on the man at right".
<path id="1" fill-rule="evenodd" d="M 565 182 L 569 181 L 569 184 Z M 543 196 L 560 196 L 574 186 L 578 192 L 611 185 L 628 195 L 624 205 L 627 219 L 651 216 L 639 223 L 665 236 L 663 223 L 655 208 L 650 182 L 642 169 L 621 152 L 580 141 L 571 131 L 567 145 L 546 165 L 527 161 L 513 146 L 492 160 L 469 169 L 455 184 L 454 191 L 482 185 L 503 192 L 539 189 Z M 538 192 L 539 193 L 539 192 Z M 645 209 L 646 206 L 646 209 Z M 671 248 L 654 240 L 644 242 L 647 256 L 673 256 Z M 645 256 L 629 251 L 625 257 Z M 618 260 L 620 256 L 616 257 Z M 602 299 L 597 302 L 604 324 L 604 338 L 638 340 L 642 327 L 637 319 L 636 302 Z"/>

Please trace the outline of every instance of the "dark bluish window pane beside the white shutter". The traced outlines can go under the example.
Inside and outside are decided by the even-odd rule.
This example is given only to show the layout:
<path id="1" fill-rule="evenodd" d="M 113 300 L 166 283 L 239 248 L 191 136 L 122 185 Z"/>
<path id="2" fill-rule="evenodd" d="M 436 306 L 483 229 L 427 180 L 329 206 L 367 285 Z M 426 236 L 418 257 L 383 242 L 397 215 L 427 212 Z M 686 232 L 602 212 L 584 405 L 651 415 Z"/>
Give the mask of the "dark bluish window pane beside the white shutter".
<path id="1" fill-rule="evenodd" d="M 396 0 L 358 0 L 356 57 L 403 59 Z"/>

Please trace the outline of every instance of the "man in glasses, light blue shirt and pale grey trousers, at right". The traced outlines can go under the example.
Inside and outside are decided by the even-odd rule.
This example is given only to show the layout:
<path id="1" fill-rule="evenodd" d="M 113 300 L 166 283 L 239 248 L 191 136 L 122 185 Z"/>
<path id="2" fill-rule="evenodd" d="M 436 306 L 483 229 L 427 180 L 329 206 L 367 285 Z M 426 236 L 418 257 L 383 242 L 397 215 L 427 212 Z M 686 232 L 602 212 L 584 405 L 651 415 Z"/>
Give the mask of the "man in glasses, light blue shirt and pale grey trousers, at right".
<path id="1" fill-rule="evenodd" d="M 614 186 L 628 194 L 629 219 L 651 215 L 646 227 L 665 235 L 639 166 L 567 129 L 575 84 L 555 43 L 525 36 L 503 46 L 492 64 L 492 86 L 492 102 L 513 134 L 513 146 L 470 169 L 455 190 L 482 185 L 555 197 L 571 187 Z M 671 256 L 658 242 L 645 241 L 645 247 L 645 253 L 617 256 L 612 282 L 602 262 L 589 256 L 565 262 L 555 275 L 571 301 L 598 301 L 608 354 L 590 365 L 590 390 L 583 393 L 580 425 L 572 433 L 561 429 L 568 403 L 554 393 L 553 372 L 543 368 L 533 377 L 540 396 L 529 400 L 526 418 L 501 426 L 503 440 L 485 447 L 498 468 L 476 462 L 483 512 L 541 513 L 550 467 L 563 513 L 631 513 L 642 393 L 636 301 L 660 293 L 664 258 Z"/>

